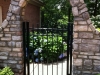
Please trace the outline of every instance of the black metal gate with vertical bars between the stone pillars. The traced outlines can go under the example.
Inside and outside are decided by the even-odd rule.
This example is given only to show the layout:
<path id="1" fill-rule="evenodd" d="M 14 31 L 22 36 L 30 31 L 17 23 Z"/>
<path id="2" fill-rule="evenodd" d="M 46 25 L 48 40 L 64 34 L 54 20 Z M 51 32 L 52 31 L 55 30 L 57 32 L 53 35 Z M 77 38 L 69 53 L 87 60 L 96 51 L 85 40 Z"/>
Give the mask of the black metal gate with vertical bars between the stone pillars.
<path id="1" fill-rule="evenodd" d="M 23 22 L 24 75 L 72 75 L 73 23 L 29 28 Z"/>

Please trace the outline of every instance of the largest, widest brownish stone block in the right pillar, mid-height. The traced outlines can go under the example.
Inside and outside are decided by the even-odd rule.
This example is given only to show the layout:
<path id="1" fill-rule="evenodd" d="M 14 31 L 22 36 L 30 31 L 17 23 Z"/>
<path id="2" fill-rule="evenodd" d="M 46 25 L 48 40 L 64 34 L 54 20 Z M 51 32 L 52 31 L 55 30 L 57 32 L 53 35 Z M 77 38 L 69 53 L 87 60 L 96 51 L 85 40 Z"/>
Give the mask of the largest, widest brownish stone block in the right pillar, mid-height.
<path id="1" fill-rule="evenodd" d="M 99 46 L 91 44 L 79 44 L 79 50 L 83 52 L 99 52 Z"/>

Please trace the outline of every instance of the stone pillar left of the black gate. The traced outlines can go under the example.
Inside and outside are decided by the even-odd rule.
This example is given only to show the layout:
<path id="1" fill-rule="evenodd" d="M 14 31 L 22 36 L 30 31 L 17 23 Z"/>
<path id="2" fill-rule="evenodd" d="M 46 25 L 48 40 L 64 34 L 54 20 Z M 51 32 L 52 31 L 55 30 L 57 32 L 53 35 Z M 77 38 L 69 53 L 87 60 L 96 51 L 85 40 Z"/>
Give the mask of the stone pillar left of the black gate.
<path id="1" fill-rule="evenodd" d="M 9 66 L 14 75 L 23 75 L 22 18 L 25 0 L 11 0 L 7 17 L 0 26 L 0 67 Z"/>

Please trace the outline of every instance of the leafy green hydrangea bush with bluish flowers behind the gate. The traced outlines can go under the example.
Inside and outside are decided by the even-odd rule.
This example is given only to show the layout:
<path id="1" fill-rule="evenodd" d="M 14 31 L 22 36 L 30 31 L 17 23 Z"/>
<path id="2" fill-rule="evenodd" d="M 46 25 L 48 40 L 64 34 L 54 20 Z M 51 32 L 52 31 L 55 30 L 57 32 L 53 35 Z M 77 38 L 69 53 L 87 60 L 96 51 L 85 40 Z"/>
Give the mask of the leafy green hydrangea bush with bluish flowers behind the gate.
<path id="1" fill-rule="evenodd" d="M 48 35 L 48 36 L 47 36 Z M 59 55 L 67 50 L 67 44 L 58 34 L 30 33 L 30 50 L 35 61 L 57 61 Z"/>

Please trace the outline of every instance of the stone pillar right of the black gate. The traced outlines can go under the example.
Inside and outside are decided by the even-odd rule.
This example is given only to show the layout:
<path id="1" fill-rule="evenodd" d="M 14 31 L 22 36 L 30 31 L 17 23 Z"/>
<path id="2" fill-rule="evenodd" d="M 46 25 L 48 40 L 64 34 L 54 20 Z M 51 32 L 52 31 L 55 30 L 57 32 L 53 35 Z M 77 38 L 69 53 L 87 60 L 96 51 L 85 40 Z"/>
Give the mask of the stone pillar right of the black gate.
<path id="1" fill-rule="evenodd" d="M 100 33 L 95 30 L 84 0 L 70 0 L 74 16 L 73 75 L 100 72 Z"/>

